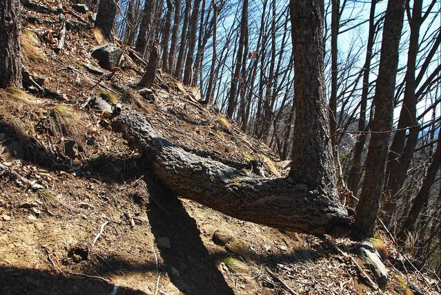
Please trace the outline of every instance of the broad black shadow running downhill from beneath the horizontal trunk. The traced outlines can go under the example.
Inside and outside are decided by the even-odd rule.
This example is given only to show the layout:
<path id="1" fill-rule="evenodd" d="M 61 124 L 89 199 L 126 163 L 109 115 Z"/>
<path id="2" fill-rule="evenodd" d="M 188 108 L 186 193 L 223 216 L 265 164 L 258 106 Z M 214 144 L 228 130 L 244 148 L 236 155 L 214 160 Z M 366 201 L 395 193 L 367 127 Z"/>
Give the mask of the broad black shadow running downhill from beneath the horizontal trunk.
<path id="1" fill-rule="evenodd" d="M 148 183 L 148 190 L 150 196 L 161 204 L 150 201 L 147 212 L 155 241 L 164 237 L 170 239 L 169 249 L 159 247 L 164 259 L 164 265 L 161 265 L 164 269 L 161 270 L 168 273 L 170 281 L 184 294 L 234 294 L 217 269 L 216 257 L 210 256 L 202 242 L 195 219 L 182 202 L 166 188 L 155 194 L 158 190 L 156 183 Z"/>

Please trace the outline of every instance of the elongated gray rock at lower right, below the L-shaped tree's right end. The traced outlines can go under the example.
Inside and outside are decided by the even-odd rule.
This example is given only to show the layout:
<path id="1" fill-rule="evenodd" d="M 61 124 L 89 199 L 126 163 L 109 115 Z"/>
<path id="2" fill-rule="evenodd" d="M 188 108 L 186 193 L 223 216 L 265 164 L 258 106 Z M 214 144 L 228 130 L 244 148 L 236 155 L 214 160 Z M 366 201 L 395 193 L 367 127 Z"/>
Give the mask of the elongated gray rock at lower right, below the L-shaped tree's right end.
<path id="1" fill-rule="evenodd" d="M 371 269 L 374 274 L 378 287 L 384 290 L 387 284 L 387 269 L 381 261 L 380 254 L 375 250 L 375 247 L 369 241 L 363 241 L 356 249 L 357 253 L 364 265 Z"/>

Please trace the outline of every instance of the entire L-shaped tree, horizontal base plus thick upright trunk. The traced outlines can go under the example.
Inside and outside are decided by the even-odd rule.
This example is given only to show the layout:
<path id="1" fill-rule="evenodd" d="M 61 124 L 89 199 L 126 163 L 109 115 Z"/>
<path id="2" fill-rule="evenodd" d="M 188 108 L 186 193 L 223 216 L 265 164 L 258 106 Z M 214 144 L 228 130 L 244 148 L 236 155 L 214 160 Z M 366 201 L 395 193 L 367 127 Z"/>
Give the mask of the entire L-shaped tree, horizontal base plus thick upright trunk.
<path id="1" fill-rule="evenodd" d="M 282 230 L 347 234 L 351 218 L 337 203 L 324 92 L 323 0 L 291 0 L 295 58 L 296 138 L 284 179 L 247 175 L 187 152 L 157 134 L 145 116 L 123 110 L 113 122 L 144 152 L 161 183 L 219 212 Z"/>

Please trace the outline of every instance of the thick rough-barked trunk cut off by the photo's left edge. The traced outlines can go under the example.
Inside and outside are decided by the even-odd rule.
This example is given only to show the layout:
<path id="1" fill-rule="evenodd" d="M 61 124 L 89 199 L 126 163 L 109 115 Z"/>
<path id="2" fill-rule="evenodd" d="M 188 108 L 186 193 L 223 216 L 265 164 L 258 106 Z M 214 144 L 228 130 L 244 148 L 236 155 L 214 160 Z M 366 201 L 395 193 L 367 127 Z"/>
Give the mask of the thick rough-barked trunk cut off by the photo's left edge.
<path id="1" fill-rule="evenodd" d="M 22 88 L 20 0 L 0 0 L 0 88 Z"/>

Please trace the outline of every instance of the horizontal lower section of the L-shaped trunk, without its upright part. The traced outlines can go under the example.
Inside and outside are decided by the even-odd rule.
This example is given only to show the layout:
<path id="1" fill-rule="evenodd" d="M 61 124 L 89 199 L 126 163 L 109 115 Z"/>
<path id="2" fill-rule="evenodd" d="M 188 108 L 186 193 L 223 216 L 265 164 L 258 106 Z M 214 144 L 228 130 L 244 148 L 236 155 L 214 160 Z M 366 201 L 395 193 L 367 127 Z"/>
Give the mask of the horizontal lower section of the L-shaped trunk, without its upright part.
<path id="1" fill-rule="evenodd" d="M 320 189 L 290 178 L 246 175 L 233 167 L 197 156 L 155 132 L 146 116 L 123 110 L 113 121 L 173 193 L 226 215 L 307 234 L 348 234 L 347 211 Z"/>

